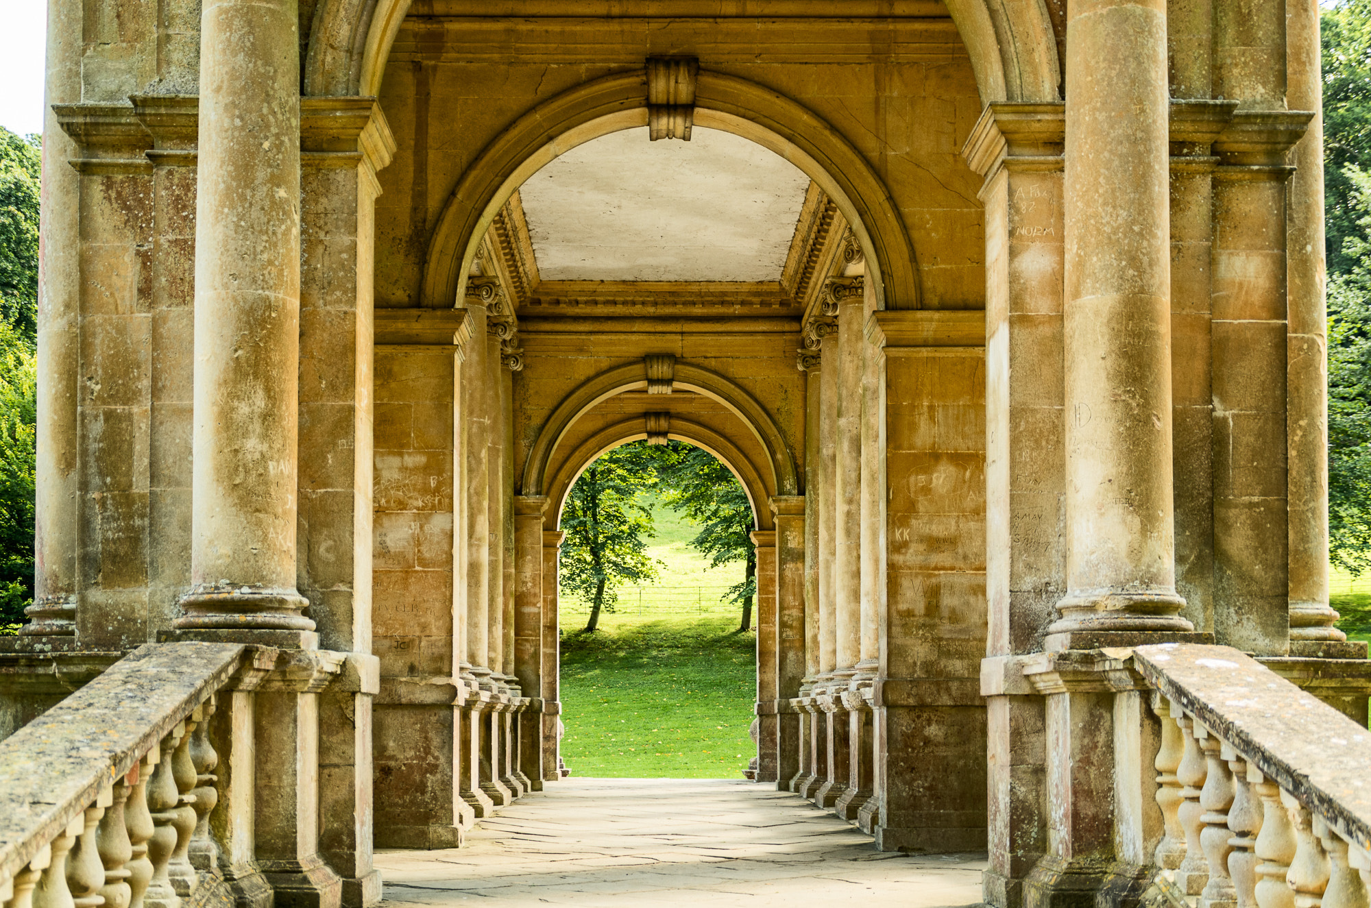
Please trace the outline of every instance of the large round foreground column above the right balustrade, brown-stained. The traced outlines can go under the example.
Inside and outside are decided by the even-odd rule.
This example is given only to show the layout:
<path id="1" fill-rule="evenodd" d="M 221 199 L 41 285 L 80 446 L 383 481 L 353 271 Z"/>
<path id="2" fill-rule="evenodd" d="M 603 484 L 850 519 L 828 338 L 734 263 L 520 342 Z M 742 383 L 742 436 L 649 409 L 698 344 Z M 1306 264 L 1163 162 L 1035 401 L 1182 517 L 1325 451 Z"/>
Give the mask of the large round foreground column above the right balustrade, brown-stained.
<path id="1" fill-rule="evenodd" d="M 1082 631 L 1190 631 L 1171 490 L 1167 15 L 1068 11 L 1065 405 L 1068 590 L 1049 647 Z"/>

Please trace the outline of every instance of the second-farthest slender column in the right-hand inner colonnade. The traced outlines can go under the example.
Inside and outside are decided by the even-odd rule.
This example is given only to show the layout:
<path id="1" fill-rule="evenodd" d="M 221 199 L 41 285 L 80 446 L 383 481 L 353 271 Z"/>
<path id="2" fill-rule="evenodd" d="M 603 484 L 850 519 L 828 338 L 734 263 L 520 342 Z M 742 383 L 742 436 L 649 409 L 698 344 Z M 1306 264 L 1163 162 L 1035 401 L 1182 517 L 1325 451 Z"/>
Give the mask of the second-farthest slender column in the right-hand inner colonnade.
<path id="1" fill-rule="evenodd" d="M 838 332 L 820 340 L 818 379 L 818 680 L 838 665 Z"/>

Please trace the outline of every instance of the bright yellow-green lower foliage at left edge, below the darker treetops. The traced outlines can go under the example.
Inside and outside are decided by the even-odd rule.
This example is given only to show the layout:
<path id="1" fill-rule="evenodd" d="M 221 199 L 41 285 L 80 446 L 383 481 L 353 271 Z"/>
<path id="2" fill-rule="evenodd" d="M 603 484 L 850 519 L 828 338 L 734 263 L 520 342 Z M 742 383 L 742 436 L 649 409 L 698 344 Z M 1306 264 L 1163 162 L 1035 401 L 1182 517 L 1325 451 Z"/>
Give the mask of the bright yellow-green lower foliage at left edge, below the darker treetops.
<path id="1" fill-rule="evenodd" d="M 37 359 L 0 325 L 0 627 L 33 602 L 33 499 Z"/>

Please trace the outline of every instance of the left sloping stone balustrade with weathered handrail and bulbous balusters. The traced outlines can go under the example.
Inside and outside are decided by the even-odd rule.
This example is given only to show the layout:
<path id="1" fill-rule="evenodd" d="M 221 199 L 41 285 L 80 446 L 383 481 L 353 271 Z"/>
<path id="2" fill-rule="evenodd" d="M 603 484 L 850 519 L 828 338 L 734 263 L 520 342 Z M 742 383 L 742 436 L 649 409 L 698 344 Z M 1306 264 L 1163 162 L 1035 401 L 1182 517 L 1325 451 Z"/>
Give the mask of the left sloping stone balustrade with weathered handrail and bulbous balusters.
<path id="1" fill-rule="evenodd" d="M 143 646 L 0 743 L 0 904 L 175 908 L 193 892 L 214 848 L 206 724 L 260 656 Z"/>

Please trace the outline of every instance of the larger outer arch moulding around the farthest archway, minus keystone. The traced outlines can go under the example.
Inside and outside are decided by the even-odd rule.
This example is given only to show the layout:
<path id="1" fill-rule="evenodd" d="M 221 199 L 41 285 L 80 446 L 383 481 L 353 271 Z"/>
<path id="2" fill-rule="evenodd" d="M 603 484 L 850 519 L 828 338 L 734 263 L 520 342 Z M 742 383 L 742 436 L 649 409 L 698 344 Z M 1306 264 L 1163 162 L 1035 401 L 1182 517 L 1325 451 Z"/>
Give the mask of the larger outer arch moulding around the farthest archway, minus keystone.
<path id="1" fill-rule="evenodd" d="M 673 384 L 683 391 L 695 391 L 723 403 L 753 432 L 769 459 L 766 465 L 769 469 L 758 470 L 762 476 L 766 472 L 771 473 L 771 481 L 762 481 L 761 486 L 768 494 L 802 494 L 795 457 L 781 435 L 780 425 L 746 388 L 717 372 L 680 359 L 675 363 Z M 548 494 L 551 488 L 548 468 L 553 464 L 553 454 L 576 420 L 596 403 L 616 394 L 639 391 L 646 387 L 647 365 L 643 359 L 638 359 L 587 379 L 562 398 L 543 422 L 533 446 L 529 449 L 518 494 L 525 497 Z"/>

